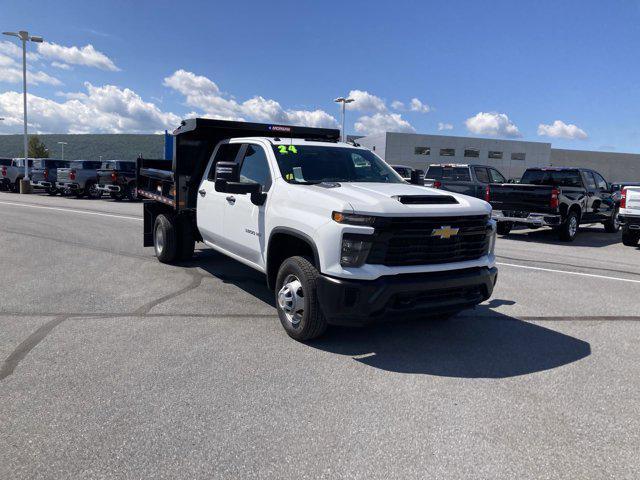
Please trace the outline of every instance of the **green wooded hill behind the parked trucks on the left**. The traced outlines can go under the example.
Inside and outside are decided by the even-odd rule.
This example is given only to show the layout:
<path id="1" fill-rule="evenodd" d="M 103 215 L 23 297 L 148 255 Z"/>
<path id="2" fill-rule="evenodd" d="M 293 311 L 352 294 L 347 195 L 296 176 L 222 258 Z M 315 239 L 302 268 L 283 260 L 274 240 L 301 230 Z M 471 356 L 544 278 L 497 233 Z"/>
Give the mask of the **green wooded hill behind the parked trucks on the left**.
<path id="1" fill-rule="evenodd" d="M 51 158 L 60 158 L 58 142 L 64 146 L 65 160 L 135 160 L 139 154 L 147 158 L 164 156 L 163 135 L 38 135 L 49 149 Z M 0 135 L 0 157 L 23 156 L 22 135 Z"/>

